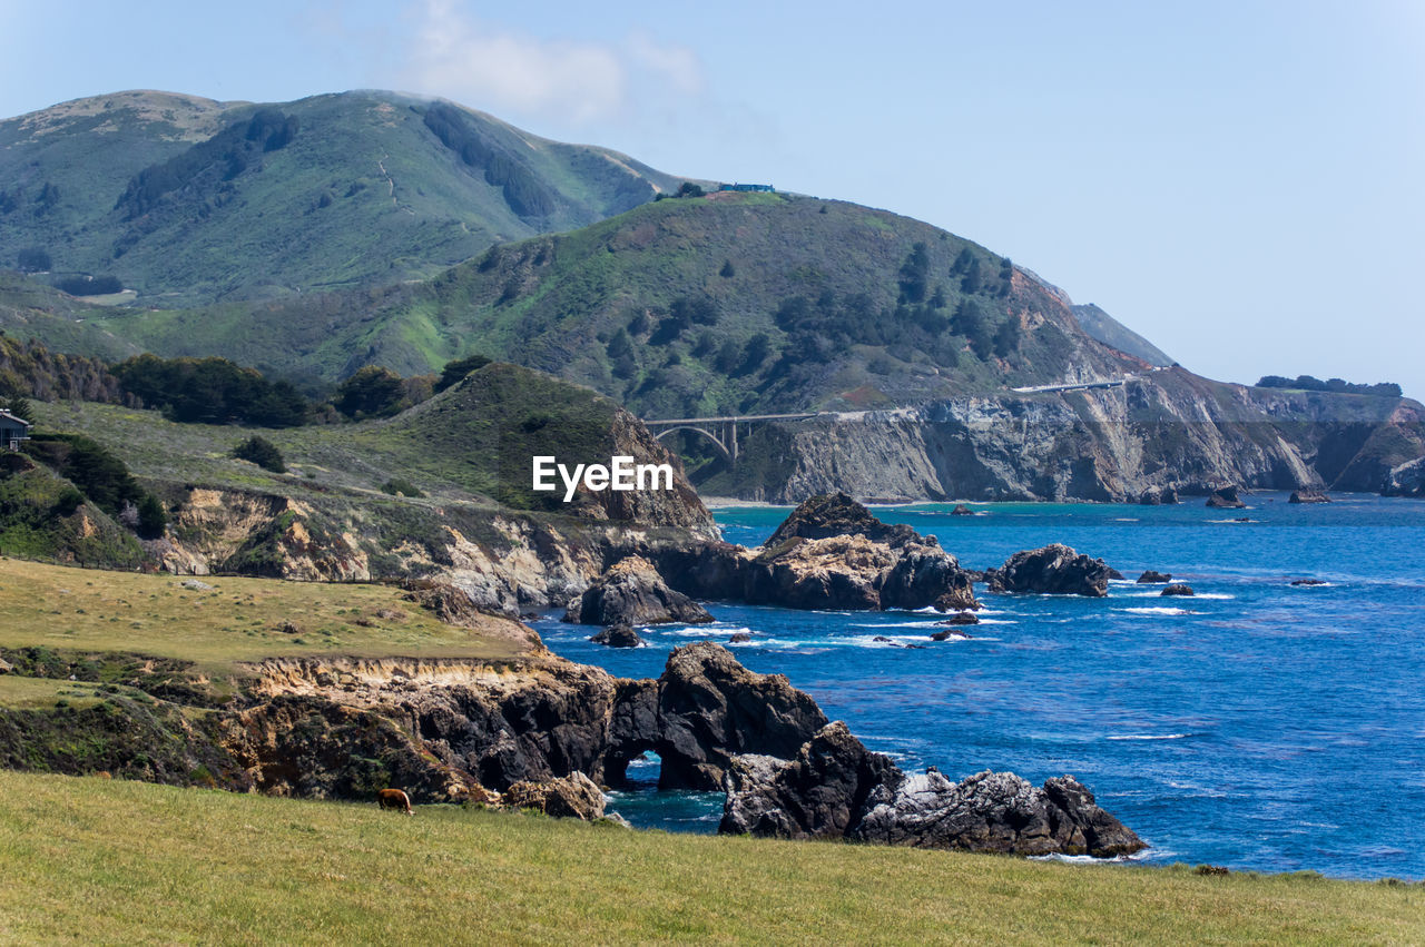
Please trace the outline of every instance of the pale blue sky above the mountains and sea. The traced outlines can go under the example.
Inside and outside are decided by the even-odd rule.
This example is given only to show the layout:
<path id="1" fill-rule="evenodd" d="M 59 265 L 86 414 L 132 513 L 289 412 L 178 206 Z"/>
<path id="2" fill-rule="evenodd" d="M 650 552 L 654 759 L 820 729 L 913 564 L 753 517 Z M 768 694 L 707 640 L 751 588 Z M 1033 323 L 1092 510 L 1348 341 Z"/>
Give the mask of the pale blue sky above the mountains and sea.
<path id="1" fill-rule="evenodd" d="M 928 221 L 1201 375 L 1425 399 L 1425 3 L 0 0 L 0 115 L 442 95 Z"/>

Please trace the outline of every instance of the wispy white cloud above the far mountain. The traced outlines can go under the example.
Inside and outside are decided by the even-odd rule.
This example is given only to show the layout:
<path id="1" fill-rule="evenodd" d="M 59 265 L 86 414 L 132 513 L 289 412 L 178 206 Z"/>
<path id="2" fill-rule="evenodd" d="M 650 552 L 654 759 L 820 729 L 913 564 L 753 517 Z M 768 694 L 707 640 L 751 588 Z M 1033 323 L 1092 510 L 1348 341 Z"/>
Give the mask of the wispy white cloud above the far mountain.
<path id="1" fill-rule="evenodd" d="M 647 88 L 697 95 L 697 56 L 634 33 L 618 43 L 547 40 L 428 0 L 408 53 L 406 85 L 493 113 L 591 124 L 617 117 Z"/>

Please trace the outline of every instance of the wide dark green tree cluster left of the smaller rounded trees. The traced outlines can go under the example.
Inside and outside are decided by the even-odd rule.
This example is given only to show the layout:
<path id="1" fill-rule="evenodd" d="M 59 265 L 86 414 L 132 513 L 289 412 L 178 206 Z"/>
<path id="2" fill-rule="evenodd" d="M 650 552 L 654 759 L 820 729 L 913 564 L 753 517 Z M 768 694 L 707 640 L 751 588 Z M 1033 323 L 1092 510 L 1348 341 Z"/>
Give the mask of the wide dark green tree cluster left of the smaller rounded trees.
<path id="1" fill-rule="evenodd" d="M 312 416 L 311 402 L 291 382 L 269 382 L 228 359 L 140 355 L 111 372 L 127 394 L 175 422 L 296 427 Z"/>

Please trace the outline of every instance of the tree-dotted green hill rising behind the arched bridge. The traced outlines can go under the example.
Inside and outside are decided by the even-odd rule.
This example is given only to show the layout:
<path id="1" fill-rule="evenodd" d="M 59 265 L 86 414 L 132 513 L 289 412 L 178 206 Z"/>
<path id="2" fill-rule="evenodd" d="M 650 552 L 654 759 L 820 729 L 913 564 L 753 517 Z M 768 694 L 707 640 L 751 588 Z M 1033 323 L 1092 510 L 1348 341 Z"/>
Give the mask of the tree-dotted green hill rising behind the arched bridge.
<path id="1" fill-rule="evenodd" d="M 103 325 L 164 355 L 323 377 L 482 352 L 654 417 L 858 410 L 1123 370 L 1003 258 L 893 214 L 772 194 L 647 204 L 416 285 Z"/>

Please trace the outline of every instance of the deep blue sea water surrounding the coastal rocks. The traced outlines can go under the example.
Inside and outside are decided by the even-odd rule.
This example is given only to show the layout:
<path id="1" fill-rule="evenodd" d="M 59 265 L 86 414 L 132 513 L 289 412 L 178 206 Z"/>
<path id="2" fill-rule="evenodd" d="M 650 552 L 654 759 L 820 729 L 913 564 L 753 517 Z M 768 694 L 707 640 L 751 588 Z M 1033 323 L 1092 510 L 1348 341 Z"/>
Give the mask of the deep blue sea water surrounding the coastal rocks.
<path id="1" fill-rule="evenodd" d="M 591 628 L 553 618 L 536 627 L 557 654 L 623 676 L 657 676 L 668 649 L 748 629 L 752 644 L 728 645 L 742 664 L 785 674 L 908 772 L 1073 773 L 1150 843 L 1147 862 L 1422 879 L 1425 503 L 1248 503 L 876 508 L 969 568 L 1059 541 L 1129 578 L 1104 600 L 978 585 L 986 609 L 965 641 L 929 641 L 933 614 L 717 602 L 717 624 L 644 628 L 636 649 L 593 645 Z M 787 513 L 717 518 L 727 540 L 757 545 Z M 1197 595 L 1133 584 L 1146 568 Z M 1290 584 L 1304 577 L 1328 584 Z M 634 825 L 715 830 L 720 793 L 654 792 L 656 759 L 631 773 L 646 785 L 613 807 Z"/>

